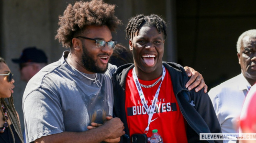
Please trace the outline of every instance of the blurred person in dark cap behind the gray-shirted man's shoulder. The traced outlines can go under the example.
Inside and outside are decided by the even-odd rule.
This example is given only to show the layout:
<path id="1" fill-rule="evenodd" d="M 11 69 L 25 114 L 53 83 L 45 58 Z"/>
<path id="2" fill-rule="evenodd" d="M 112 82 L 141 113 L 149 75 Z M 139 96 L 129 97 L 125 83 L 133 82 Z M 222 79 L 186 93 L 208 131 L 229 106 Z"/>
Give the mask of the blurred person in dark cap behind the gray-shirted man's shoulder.
<path id="1" fill-rule="evenodd" d="M 28 82 L 38 71 L 47 65 L 47 57 L 44 51 L 36 47 L 25 48 L 19 59 L 12 59 L 19 64 L 20 79 Z"/>

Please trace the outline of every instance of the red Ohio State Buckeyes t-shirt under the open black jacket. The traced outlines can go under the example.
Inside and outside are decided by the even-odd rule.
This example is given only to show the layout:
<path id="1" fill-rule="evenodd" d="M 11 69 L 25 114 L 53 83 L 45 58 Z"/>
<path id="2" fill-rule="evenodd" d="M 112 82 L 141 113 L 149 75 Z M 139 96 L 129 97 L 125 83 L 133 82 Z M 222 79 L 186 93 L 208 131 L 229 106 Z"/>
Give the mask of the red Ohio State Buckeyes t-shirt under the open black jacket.
<path id="1" fill-rule="evenodd" d="M 132 134 L 143 134 L 148 125 L 148 114 L 142 106 L 131 72 L 132 70 L 129 71 L 126 77 L 125 103 L 130 136 Z M 139 82 L 143 85 L 151 85 L 158 79 L 152 81 L 139 80 Z M 161 81 L 151 88 L 142 87 L 145 99 L 148 101 L 148 107 L 151 107 L 153 97 L 157 92 L 157 88 L 160 83 Z M 147 137 L 152 136 L 153 129 L 158 129 L 158 133 L 163 138 L 163 142 L 187 142 L 184 118 L 174 96 L 171 76 L 168 70 L 166 70 L 166 74 L 160 88 L 155 111 L 156 112 L 153 114 L 152 120 L 155 118 L 157 119 L 151 122 L 149 132 L 146 134 Z"/>

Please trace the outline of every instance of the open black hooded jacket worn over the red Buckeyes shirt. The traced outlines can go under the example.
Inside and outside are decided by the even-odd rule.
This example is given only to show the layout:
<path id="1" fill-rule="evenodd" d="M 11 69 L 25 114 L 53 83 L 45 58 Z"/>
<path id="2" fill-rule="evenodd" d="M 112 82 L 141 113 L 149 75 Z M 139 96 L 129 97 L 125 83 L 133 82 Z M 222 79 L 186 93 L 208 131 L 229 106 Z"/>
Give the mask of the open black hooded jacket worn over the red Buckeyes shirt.
<path id="1" fill-rule="evenodd" d="M 188 142 L 214 142 L 213 140 L 199 140 L 199 133 L 221 133 L 221 128 L 215 114 L 212 101 L 203 89 L 199 92 L 188 91 L 185 84 L 188 76 L 180 64 L 163 62 L 163 66 L 171 75 L 173 92 L 180 110 L 187 121 L 186 135 Z M 114 85 L 114 115 L 123 121 L 125 132 L 129 135 L 125 112 L 125 83 L 126 76 L 134 64 L 125 64 L 113 74 Z M 195 106 L 192 106 L 195 105 Z M 121 137 L 120 142 L 130 142 L 130 139 Z M 222 142 L 217 140 L 215 142 Z"/>

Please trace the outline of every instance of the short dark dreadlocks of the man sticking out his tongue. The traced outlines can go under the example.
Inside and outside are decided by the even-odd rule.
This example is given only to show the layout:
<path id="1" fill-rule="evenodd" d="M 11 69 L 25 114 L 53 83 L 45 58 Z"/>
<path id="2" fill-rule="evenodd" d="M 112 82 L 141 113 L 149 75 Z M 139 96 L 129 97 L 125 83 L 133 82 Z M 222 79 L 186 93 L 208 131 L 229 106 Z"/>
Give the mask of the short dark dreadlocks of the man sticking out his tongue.
<path id="1" fill-rule="evenodd" d="M 126 27 L 126 38 L 132 39 L 135 36 L 136 31 L 138 31 L 142 26 L 156 27 L 158 32 L 163 32 L 164 39 L 166 38 L 166 23 L 158 15 L 137 15 L 132 17 L 128 22 Z M 139 34 L 139 33 L 138 33 Z"/>

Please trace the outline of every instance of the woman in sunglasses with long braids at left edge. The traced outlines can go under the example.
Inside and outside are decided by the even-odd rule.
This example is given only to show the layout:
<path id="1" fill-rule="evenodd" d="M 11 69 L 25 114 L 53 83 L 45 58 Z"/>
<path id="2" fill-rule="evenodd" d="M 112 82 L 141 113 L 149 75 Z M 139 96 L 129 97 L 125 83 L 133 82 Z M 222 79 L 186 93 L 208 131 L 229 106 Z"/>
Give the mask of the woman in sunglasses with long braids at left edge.
<path id="1" fill-rule="evenodd" d="M 18 113 L 13 103 L 14 79 L 0 57 L 0 142 L 23 142 Z"/>

